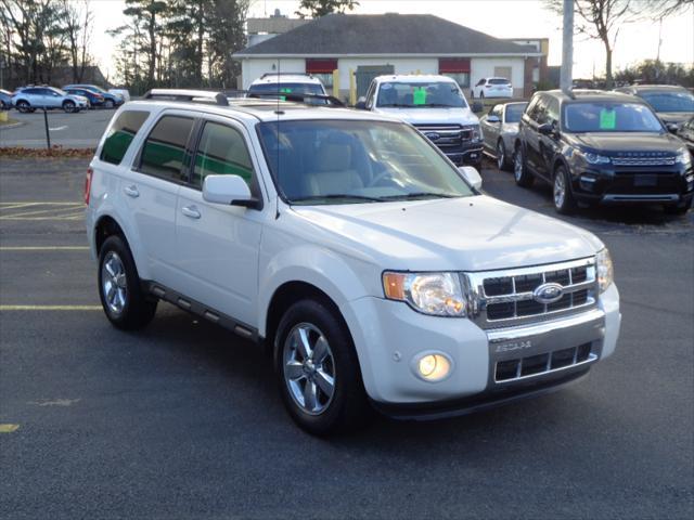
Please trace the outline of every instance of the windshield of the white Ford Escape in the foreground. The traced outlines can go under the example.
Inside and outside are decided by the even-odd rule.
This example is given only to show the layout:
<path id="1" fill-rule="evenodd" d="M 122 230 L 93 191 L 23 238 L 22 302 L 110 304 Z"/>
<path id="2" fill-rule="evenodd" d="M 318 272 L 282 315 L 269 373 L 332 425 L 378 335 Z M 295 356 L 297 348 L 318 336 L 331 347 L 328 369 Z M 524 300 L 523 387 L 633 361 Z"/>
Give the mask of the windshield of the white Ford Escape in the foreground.
<path id="1" fill-rule="evenodd" d="M 368 204 L 474 193 L 426 138 L 403 123 L 301 120 L 264 122 L 258 128 L 280 193 L 291 204 Z"/>

